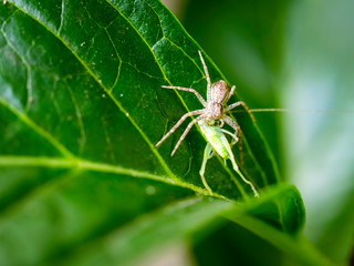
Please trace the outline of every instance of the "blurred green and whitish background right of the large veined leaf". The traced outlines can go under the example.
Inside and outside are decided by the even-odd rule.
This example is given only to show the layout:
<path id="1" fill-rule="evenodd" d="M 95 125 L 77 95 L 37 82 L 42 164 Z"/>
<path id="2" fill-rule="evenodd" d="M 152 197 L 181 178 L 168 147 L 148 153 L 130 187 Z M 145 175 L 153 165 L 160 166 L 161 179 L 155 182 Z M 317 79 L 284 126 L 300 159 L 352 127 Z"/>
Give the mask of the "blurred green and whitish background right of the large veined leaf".
<path id="1" fill-rule="evenodd" d="M 257 113 L 257 122 L 282 178 L 302 193 L 306 237 L 335 262 L 347 260 L 354 227 L 354 1 L 164 2 L 250 108 L 292 110 Z"/>

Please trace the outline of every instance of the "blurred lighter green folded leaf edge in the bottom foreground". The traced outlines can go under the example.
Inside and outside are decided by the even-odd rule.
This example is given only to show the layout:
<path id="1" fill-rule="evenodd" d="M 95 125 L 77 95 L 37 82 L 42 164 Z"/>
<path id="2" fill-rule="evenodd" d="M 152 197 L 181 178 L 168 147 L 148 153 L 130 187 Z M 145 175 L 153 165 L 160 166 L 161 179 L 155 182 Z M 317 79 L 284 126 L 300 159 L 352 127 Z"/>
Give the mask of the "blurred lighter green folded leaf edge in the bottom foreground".
<path id="1" fill-rule="evenodd" d="M 299 193 L 292 186 L 281 185 L 275 190 L 269 191 L 259 202 L 243 205 L 232 204 L 221 200 L 202 200 L 200 197 L 173 203 L 163 209 L 142 217 L 129 226 L 113 232 L 93 245 L 79 249 L 76 253 L 73 253 L 71 257 L 59 260 L 59 265 L 67 265 L 67 262 L 70 262 L 69 265 L 92 265 L 93 262 L 105 265 L 126 265 L 127 262 L 132 260 L 132 257 L 135 259 L 139 258 L 144 256 L 146 252 L 160 247 L 162 243 L 181 241 L 183 234 L 186 232 L 192 233 L 196 227 L 208 225 L 215 219 L 216 215 L 222 215 L 237 221 L 237 223 L 242 223 L 243 219 L 250 218 L 252 212 L 257 211 L 260 206 L 281 200 L 293 200 L 294 196 L 299 197 L 296 194 Z M 220 224 L 220 222 L 219 218 L 219 221 L 214 221 L 214 224 Z M 267 226 L 267 223 L 259 221 L 259 224 L 257 224 L 253 229 L 260 228 L 262 231 L 264 229 L 263 226 Z M 296 238 L 285 236 L 285 234 L 272 226 L 269 226 L 267 232 L 279 234 L 279 243 L 293 246 L 298 243 Z M 271 234 L 267 236 L 268 239 L 272 238 Z M 289 252 L 296 253 L 301 252 L 301 249 L 295 247 L 289 249 Z M 313 259 L 313 262 L 320 262 L 322 265 L 326 265 L 321 262 L 321 256 L 315 257 L 311 252 L 303 254 L 302 258 L 308 263 Z"/>

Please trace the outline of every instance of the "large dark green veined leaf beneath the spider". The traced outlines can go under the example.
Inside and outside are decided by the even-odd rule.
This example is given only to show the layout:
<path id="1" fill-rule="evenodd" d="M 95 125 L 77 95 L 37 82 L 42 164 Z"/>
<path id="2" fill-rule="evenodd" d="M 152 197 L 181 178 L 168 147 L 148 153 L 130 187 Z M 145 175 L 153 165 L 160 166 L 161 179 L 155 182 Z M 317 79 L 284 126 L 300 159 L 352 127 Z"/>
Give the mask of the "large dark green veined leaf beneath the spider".
<path id="1" fill-rule="evenodd" d="M 220 158 L 206 172 L 219 200 L 199 198 L 207 194 L 199 176 L 206 142 L 197 129 L 174 157 L 181 129 L 154 146 L 200 109 L 194 95 L 160 85 L 206 94 L 201 49 L 159 1 L 8 1 L 0 24 L 0 264 L 75 264 L 92 246 L 102 247 L 92 256 L 114 255 L 105 265 L 132 262 L 134 250 L 200 231 L 235 201 L 249 202 L 249 215 L 281 234 L 299 233 L 304 212 L 295 188 L 290 201 L 260 205 L 266 194 L 250 201 L 250 187 Z M 212 82 L 225 80 L 205 59 Z M 258 190 L 275 185 L 257 124 L 247 113 L 237 121 L 242 172 Z M 124 256 L 115 253 L 123 247 Z"/>

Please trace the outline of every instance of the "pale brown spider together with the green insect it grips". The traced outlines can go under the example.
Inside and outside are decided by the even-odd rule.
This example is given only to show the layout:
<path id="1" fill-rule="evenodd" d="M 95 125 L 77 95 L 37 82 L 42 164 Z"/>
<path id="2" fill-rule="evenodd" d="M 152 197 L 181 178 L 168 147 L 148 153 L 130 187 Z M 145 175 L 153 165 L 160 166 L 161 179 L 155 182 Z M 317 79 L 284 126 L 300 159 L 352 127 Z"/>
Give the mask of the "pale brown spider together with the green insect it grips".
<path id="1" fill-rule="evenodd" d="M 208 73 L 208 68 L 204 61 L 204 58 L 201 55 L 201 52 L 198 51 L 199 57 L 200 57 L 200 61 L 202 63 L 204 66 L 204 71 L 207 78 L 207 101 L 194 89 L 190 88 L 181 88 L 181 86 L 165 86 L 163 85 L 162 88 L 164 89 L 176 89 L 179 91 L 187 91 L 187 92 L 192 92 L 195 93 L 195 95 L 198 98 L 199 102 L 202 104 L 204 109 L 200 110 L 196 110 L 196 111 L 191 111 L 189 113 L 186 113 L 185 115 L 183 115 L 179 121 L 174 125 L 173 129 L 170 129 L 170 131 L 163 136 L 163 139 L 156 143 L 156 147 L 159 146 L 168 136 L 170 136 L 176 130 L 177 127 L 189 116 L 191 115 L 197 115 L 199 114 L 199 116 L 197 116 L 196 119 L 194 119 L 186 127 L 185 132 L 183 133 L 183 135 L 180 136 L 180 139 L 178 140 L 175 149 L 173 150 L 170 156 L 174 156 L 175 152 L 177 151 L 178 146 L 180 145 L 180 143 L 183 142 L 183 140 L 187 136 L 187 134 L 189 133 L 190 129 L 192 127 L 192 125 L 195 123 L 198 122 L 199 127 L 201 129 L 204 135 L 207 137 L 208 140 L 208 144 L 206 146 L 205 150 L 205 155 L 204 155 L 204 162 L 201 164 L 201 170 L 200 170 L 200 176 L 201 176 L 201 181 L 205 185 L 205 187 L 207 188 L 207 191 L 209 192 L 210 195 L 212 195 L 212 191 L 211 188 L 208 186 L 205 177 L 204 177 L 204 173 L 205 173 L 205 167 L 206 167 L 206 163 L 207 161 L 212 157 L 212 155 L 215 154 L 215 152 L 217 152 L 223 160 L 230 158 L 232 162 L 232 166 L 233 170 L 241 176 L 241 178 L 243 180 L 243 182 L 246 182 L 247 184 L 249 184 L 254 193 L 254 196 L 258 197 L 258 193 L 253 186 L 253 184 L 246 180 L 244 176 L 242 175 L 242 173 L 240 172 L 240 170 L 238 168 L 232 151 L 231 151 L 231 146 L 238 141 L 238 133 L 241 132 L 240 131 L 240 126 L 230 117 L 228 116 L 226 113 L 232 109 L 235 109 L 236 106 L 242 105 L 244 108 L 244 110 L 247 112 L 250 112 L 249 108 L 246 105 L 244 102 L 236 102 L 232 103 L 230 105 L 227 105 L 227 102 L 230 100 L 230 98 L 232 96 L 236 86 L 233 85 L 231 88 L 231 90 L 229 91 L 229 88 L 227 85 L 227 83 L 223 80 L 217 81 L 215 82 L 212 85 L 210 83 L 210 76 Z M 252 116 L 252 115 L 251 115 Z M 253 119 L 253 116 L 252 116 Z M 222 130 L 221 127 L 223 126 L 223 124 L 227 123 L 228 125 L 230 125 L 233 130 L 235 130 L 235 134 Z M 231 142 L 231 145 L 229 144 L 229 142 L 227 141 L 227 139 L 225 137 L 223 133 L 226 134 L 230 134 L 233 139 L 233 141 Z"/>

